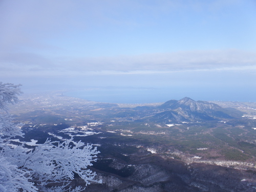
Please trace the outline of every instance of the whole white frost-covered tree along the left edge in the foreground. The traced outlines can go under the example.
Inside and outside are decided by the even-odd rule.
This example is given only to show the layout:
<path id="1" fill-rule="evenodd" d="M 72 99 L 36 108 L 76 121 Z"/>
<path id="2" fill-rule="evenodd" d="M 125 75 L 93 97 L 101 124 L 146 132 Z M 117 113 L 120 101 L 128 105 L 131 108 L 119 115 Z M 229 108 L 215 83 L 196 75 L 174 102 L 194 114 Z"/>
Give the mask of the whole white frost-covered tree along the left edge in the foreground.
<path id="1" fill-rule="evenodd" d="M 18 102 L 20 85 L 0 82 L 0 191 L 81 191 L 69 187 L 77 174 L 86 184 L 95 181 L 95 173 L 87 168 L 99 153 L 91 144 L 47 140 L 33 150 L 11 145 L 10 138 L 23 136 L 12 123 L 7 104 Z M 100 182 L 100 181 L 98 181 Z"/>

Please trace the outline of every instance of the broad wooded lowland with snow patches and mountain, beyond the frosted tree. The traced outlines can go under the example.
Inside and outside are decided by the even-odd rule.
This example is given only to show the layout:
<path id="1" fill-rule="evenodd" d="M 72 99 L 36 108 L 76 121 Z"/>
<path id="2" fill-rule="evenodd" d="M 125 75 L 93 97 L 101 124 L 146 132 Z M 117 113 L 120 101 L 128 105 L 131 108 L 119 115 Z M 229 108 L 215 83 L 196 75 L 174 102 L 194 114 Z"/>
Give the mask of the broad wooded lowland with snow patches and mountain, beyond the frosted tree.
<path id="1" fill-rule="evenodd" d="M 188 97 L 100 103 L 51 92 L 22 95 L 10 113 L 25 132 L 13 144 L 72 137 L 97 146 L 91 169 L 102 184 L 86 191 L 256 191 L 255 109 Z"/>

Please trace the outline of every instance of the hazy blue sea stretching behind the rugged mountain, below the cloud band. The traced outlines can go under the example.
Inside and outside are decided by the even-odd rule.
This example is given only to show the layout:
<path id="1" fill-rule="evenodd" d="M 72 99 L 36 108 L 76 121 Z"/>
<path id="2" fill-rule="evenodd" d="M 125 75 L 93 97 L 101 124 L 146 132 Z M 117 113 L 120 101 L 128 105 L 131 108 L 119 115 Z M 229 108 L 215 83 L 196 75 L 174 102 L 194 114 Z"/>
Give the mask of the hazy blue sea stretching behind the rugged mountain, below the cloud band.
<path id="1" fill-rule="evenodd" d="M 238 91 L 236 89 L 212 89 L 205 88 L 90 88 L 79 91 L 66 92 L 66 96 L 82 98 L 90 101 L 107 103 L 154 103 L 166 102 L 171 99 L 182 99 L 190 97 L 194 100 L 204 101 L 246 101 L 255 102 L 252 91 L 245 94 L 248 90 Z"/>

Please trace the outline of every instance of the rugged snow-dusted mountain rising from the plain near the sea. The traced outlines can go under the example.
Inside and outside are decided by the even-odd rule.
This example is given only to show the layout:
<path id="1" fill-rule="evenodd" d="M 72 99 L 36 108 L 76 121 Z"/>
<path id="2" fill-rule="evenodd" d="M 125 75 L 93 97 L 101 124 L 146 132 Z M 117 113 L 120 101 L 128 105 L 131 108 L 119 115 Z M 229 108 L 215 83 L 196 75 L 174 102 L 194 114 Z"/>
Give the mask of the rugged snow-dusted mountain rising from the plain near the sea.
<path id="1" fill-rule="evenodd" d="M 156 113 L 149 120 L 168 123 L 180 121 L 209 121 L 233 119 L 242 113 L 233 109 L 224 109 L 218 104 L 207 101 L 195 101 L 189 97 L 180 100 L 169 100 L 158 106 L 160 113 Z"/>

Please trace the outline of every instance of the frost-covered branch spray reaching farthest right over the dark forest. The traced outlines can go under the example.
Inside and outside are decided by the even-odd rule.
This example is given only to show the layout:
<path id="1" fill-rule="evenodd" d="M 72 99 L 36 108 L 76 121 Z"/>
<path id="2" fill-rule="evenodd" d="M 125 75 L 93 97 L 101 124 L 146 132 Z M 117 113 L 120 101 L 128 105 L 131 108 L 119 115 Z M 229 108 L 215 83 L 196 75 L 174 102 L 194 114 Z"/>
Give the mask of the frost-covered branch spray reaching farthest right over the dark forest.
<path id="1" fill-rule="evenodd" d="M 96 147 L 84 145 L 80 141 L 67 140 L 60 143 L 47 140 L 29 153 L 23 168 L 33 170 L 40 180 L 70 181 L 76 173 L 90 184 L 96 174 L 87 167 L 96 160 L 98 153 Z"/>

